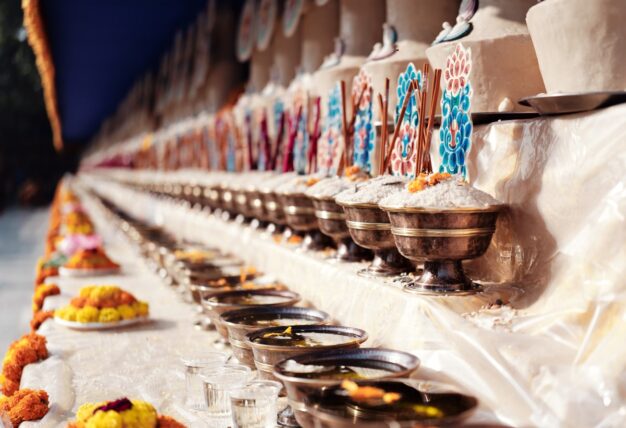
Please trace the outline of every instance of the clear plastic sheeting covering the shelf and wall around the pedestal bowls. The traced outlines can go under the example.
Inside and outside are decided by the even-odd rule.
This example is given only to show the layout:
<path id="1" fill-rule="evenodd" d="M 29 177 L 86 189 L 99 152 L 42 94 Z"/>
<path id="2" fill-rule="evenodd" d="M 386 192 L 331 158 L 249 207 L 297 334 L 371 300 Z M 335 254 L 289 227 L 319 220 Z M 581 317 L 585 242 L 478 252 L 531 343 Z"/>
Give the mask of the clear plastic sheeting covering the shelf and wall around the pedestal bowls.
<path id="1" fill-rule="evenodd" d="M 626 106 L 616 106 L 476 127 L 470 179 L 510 209 L 488 253 L 468 264 L 487 286 L 471 297 L 408 295 L 356 276 L 357 265 L 298 253 L 110 180 L 84 182 L 181 237 L 241 254 L 367 330 L 371 344 L 414 352 L 420 376 L 475 394 L 489 409 L 485 421 L 617 427 L 626 426 L 625 125 Z"/>

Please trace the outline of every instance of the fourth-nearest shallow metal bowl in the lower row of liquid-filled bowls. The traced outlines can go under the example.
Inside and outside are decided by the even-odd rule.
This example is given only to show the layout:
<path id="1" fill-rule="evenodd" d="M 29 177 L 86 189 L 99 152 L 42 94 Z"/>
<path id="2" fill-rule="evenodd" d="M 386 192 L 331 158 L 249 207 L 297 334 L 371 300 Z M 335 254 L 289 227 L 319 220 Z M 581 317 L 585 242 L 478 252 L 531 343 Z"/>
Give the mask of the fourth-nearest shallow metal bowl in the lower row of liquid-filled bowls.
<path id="1" fill-rule="evenodd" d="M 289 320 L 293 325 L 329 324 L 330 315 L 311 308 L 250 308 L 224 312 L 221 320 L 228 329 L 228 341 L 233 355 L 240 363 L 256 368 L 252 348 L 246 343 L 246 335 L 265 327 L 279 325 L 281 320 Z"/>

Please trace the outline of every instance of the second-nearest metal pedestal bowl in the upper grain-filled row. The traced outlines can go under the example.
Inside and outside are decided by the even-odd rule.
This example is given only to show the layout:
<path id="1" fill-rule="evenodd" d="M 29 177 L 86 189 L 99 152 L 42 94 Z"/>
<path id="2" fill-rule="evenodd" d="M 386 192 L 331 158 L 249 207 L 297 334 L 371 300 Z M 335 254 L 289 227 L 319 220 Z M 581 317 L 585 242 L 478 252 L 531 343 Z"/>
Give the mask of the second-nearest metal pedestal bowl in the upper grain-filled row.
<path id="1" fill-rule="evenodd" d="M 387 214 L 376 204 L 338 203 L 346 213 L 346 225 L 357 245 L 374 251 L 374 260 L 358 272 L 361 276 L 395 276 L 413 270 L 398 252 Z"/>

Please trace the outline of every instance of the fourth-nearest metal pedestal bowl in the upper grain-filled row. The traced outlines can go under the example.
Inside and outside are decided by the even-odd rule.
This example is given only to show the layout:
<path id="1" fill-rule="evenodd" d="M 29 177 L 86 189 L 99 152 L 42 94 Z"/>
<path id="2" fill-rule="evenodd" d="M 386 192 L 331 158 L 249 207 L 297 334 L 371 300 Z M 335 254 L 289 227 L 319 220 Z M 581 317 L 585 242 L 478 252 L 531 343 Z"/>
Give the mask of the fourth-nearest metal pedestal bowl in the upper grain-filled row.
<path id="1" fill-rule="evenodd" d="M 332 245 L 332 241 L 319 229 L 313 201 L 304 193 L 279 193 L 285 218 L 289 227 L 304 233 L 301 249 L 323 250 Z"/>

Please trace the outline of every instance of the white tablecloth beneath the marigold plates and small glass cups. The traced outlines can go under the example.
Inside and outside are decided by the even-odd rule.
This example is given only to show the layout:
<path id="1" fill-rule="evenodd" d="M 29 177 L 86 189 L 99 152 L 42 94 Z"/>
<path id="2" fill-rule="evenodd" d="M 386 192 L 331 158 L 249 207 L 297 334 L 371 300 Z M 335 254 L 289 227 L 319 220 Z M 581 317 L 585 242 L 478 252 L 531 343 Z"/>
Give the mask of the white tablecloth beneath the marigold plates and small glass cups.
<path id="1" fill-rule="evenodd" d="M 120 275 L 97 278 L 49 278 L 61 288 L 60 296 L 45 300 L 44 309 L 69 302 L 89 284 L 115 284 L 150 303 L 151 322 L 121 330 L 81 332 L 46 321 L 39 329 L 48 339 L 50 358 L 26 366 L 22 388 L 44 389 L 50 396 L 50 412 L 29 427 L 65 427 L 85 402 L 114 400 L 127 396 L 148 401 L 163 414 L 189 426 L 205 427 L 202 418 L 182 406 L 184 371 L 179 358 L 186 352 L 213 347 L 215 331 L 193 327 L 194 309 L 180 301 L 141 262 L 121 231 L 103 221 L 88 198 L 97 230 L 105 238 L 107 253 L 122 264 Z M 42 237 L 43 238 L 43 237 Z"/>

